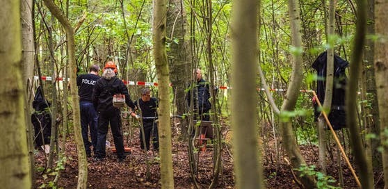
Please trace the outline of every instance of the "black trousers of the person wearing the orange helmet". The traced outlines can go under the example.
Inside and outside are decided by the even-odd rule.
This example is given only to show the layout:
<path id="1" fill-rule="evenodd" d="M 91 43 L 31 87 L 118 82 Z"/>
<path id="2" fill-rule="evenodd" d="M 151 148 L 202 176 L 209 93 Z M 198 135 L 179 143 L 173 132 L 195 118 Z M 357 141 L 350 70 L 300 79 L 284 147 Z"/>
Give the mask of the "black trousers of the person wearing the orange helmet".
<path id="1" fill-rule="evenodd" d="M 97 128 L 97 158 L 104 158 L 106 156 L 105 141 L 106 134 L 108 133 L 108 125 L 111 125 L 111 131 L 113 135 L 113 142 L 115 142 L 115 148 L 119 159 L 125 158 L 124 155 L 124 141 L 122 139 L 122 126 L 120 110 L 114 108 L 114 110 L 104 111 L 99 113 L 98 128 Z"/>

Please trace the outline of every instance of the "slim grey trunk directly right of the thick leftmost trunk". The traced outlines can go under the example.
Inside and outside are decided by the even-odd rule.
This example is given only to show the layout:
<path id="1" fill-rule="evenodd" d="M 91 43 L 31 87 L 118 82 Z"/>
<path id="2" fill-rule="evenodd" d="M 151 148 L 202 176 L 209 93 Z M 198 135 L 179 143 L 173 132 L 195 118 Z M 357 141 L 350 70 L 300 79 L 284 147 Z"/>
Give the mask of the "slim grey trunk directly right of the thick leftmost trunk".
<path id="1" fill-rule="evenodd" d="M 33 135 L 34 130 L 31 124 L 30 117 L 32 112 L 32 83 L 33 83 L 33 65 L 34 65 L 34 44 L 33 44 L 33 0 L 22 1 L 21 4 L 22 15 L 22 58 L 23 58 L 23 85 L 26 86 L 26 98 L 24 103 L 24 113 L 26 117 L 26 133 L 27 143 L 29 148 L 29 163 L 31 170 L 31 183 L 35 183 L 35 159 L 33 156 Z M 32 186 L 33 187 L 33 186 Z"/>

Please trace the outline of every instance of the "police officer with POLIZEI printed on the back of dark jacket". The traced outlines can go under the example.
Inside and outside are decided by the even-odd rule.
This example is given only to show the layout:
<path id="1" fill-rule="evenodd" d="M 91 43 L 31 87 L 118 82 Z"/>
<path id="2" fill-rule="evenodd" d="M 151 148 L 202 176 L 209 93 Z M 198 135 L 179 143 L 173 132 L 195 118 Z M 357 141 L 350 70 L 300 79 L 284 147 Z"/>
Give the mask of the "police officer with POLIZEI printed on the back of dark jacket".
<path id="1" fill-rule="evenodd" d="M 93 151 L 96 153 L 97 146 L 97 124 L 98 114 L 92 103 L 92 92 L 95 83 L 99 79 L 99 66 L 92 65 L 89 68 L 88 74 L 82 74 L 76 77 L 76 85 L 78 86 L 79 108 L 81 111 L 81 133 L 83 145 L 85 145 L 86 156 L 91 157 L 90 147 L 93 146 Z M 88 130 L 90 130 L 90 139 L 88 138 Z"/>

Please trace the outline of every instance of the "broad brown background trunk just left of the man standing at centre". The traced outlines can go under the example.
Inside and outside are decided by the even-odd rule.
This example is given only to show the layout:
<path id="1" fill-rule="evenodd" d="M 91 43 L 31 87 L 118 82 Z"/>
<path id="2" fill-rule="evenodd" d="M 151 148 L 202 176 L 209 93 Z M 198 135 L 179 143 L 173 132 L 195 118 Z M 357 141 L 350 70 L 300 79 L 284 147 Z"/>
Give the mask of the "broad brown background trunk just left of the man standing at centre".
<path id="1" fill-rule="evenodd" d="M 174 93 L 174 103 L 177 107 L 177 115 L 183 115 L 185 110 L 185 92 L 190 82 L 190 53 L 188 41 L 185 39 L 187 31 L 186 11 L 181 0 L 171 0 L 167 11 L 167 38 L 170 43 L 168 51 L 168 64 L 170 67 L 170 79 L 172 92 Z M 183 124 L 182 124 L 183 125 Z M 186 124 L 184 124 L 186 125 Z M 182 128 L 187 130 L 185 128 Z M 182 131 L 182 133 L 187 133 Z"/>

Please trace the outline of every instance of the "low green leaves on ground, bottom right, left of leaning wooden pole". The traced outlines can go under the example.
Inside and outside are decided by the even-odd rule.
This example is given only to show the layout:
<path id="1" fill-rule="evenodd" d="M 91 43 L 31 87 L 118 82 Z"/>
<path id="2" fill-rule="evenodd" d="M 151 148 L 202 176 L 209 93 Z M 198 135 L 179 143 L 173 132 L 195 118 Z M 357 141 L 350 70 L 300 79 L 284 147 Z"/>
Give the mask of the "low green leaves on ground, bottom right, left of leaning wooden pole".
<path id="1" fill-rule="evenodd" d="M 298 169 L 298 172 L 300 172 L 300 176 L 314 176 L 314 178 L 317 180 L 316 186 L 317 188 L 332 188 L 332 189 L 339 189 L 340 187 L 332 186 L 331 184 L 335 183 L 336 181 L 332 178 L 332 176 L 328 176 L 323 174 L 322 172 L 318 172 L 315 170 L 315 165 L 301 165 Z"/>

